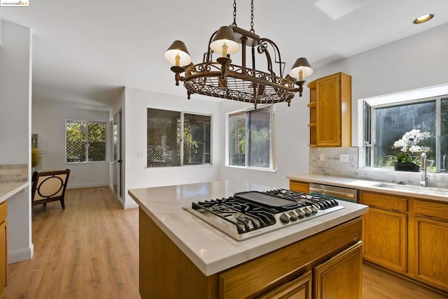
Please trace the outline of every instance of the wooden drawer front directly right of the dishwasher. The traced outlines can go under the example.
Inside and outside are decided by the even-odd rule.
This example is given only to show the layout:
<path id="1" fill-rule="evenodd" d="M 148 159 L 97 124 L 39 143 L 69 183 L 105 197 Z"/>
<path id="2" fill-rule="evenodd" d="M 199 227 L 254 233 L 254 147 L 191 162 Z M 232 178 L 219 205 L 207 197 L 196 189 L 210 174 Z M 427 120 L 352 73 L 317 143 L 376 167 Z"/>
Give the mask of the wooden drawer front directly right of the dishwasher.
<path id="1" fill-rule="evenodd" d="M 397 212 L 407 212 L 407 198 L 366 191 L 360 192 L 360 203 Z"/>

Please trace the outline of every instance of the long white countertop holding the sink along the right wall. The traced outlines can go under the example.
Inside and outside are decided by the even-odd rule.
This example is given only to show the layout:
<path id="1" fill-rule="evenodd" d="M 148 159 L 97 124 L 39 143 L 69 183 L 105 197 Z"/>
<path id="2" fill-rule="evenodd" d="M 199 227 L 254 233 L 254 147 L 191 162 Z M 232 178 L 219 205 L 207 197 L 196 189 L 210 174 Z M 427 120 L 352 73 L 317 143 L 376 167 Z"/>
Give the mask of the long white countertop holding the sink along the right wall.
<path id="1" fill-rule="evenodd" d="M 301 182 L 313 182 L 318 184 L 330 184 L 332 186 L 338 186 L 338 187 L 348 187 L 358 190 L 367 190 L 367 191 L 374 191 L 374 192 L 382 192 L 386 194 L 395 194 L 399 196 L 412 196 L 416 198 L 425 198 L 429 200 L 438 200 L 438 201 L 444 201 L 448 203 L 448 189 L 442 189 L 442 188 L 423 188 L 423 187 L 415 187 L 412 185 L 398 185 L 393 186 L 396 184 L 393 183 L 387 183 L 387 182 L 380 182 L 380 181 L 374 181 L 374 180 L 358 180 L 356 178 L 352 177 L 333 177 L 330 175 L 312 175 L 309 173 L 304 173 L 300 175 L 288 175 L 286 177 L 288 180 L 297 180 Z M 380 184 L 391 185 L 389 187 L 378 187 Z M 394 189 L 404 187 L 409 189 Z M 442 192 L 440 192 L 442 191 Z M 445 194 L 446 195 L 442 195 Z"/>

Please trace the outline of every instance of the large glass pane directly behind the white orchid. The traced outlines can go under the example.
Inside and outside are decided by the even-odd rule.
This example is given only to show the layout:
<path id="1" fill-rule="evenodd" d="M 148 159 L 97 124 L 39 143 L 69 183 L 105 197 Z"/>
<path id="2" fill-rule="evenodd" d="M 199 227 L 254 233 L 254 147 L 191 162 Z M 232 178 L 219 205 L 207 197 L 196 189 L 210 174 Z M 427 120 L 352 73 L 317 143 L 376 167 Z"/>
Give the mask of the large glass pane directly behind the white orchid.
<path id="1" fill-rule="evenodd" d="M 389 156 L 395 156 L 399 149 L 393 149 L 393 143 L 412 129 L 429 132 L 430 138 L 419 145 L 430 147 L 428 161 L 435 162 L 435 101 L 412 103 L 393 107 L 376 108 L 374 133 L 374 166 L 391 166 Z M 418 154 L 412 156 L 418 158 Z M 435 163 L 433 164 L 435 165 Z"/>

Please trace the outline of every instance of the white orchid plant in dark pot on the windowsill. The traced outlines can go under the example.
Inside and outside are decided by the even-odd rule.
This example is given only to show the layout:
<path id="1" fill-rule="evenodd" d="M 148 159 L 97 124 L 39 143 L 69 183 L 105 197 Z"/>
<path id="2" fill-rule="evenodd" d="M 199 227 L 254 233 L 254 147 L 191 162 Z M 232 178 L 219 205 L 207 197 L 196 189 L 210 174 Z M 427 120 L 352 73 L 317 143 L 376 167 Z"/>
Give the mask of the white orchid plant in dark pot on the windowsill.
<path id="1" fill-rule="evenodd" d="M 421 132 L 419 129 L 412 129 L 406 132 L 400 140 L 393 143 L 392 148 L 400 149 L 400 153 L 394 156 L 394 158 L 397 162 L 413 162 L 412 154 L 429 151 L 429 147 L 419 145 L 422 140 L 429 137 L 429 132 Z"/>

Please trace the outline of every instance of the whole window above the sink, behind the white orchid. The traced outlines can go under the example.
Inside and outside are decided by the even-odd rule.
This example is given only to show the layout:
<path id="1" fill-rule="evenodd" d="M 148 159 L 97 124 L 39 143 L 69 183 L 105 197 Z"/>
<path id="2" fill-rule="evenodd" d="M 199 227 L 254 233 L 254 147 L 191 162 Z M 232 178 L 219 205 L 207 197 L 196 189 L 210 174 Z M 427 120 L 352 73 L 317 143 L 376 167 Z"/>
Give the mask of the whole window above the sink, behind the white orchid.
<path id="1" fill-rule="evenodd" d="M 372 103 L 370 103 L 372 104 Z M 371 109 L 371 110 L 370 110 Z M 419 145 L 428 147 L 426 152 L 429 171 L 448 172 L 448 96 L 436 96 L 428 99 L 381 103 L 364 108 L 364 133 L 370 131 L 372 142 L 365 140 L 365 166 L 393 166 L 393 156 L 400 149 L 394 149 L 393 143 L 412 129 L 430 133 L 429 138 Z M 370 129 L 371 126 L 371 129 Z M 419 163 L 419 153 L 411 155 Z M 372 159 L 372 164 L 368 161 Z"/>

